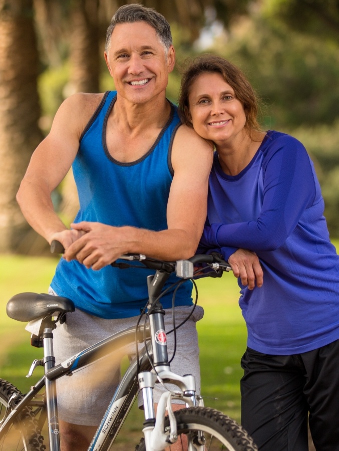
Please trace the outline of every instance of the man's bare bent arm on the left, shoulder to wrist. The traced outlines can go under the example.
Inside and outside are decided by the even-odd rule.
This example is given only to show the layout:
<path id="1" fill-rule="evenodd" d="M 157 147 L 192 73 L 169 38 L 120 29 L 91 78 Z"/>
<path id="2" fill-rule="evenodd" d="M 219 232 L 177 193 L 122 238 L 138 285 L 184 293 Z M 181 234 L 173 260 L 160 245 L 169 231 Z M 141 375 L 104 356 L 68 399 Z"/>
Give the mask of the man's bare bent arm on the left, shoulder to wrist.
<path id="1" fill-rule="evenodd" d="M 51 192 L 63 180 L 77 154 L 79 138 L 92 109 L 87 108 L 86 103 L 84 94 L 63 102 L 49 135 L 32 155 L 17 194 L 22 212 L 33 229 L 49 243 L 58 237 L 65 247 L 78 238 L 79 233 L 67 231 L 54 211 Z"/>

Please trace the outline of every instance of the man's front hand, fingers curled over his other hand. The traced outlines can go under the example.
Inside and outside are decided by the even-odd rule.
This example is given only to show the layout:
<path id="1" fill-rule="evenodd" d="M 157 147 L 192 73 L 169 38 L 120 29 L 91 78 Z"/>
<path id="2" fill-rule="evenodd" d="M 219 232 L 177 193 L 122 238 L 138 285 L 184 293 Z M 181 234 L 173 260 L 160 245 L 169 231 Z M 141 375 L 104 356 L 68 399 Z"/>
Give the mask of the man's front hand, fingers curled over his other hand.
<path id="1" fill-rule="evenodd" d="M 133 236 L 131 227 L 113 227 L 100 222 L 82 221 L 71 227 L 82 236 L 66 249 L 64 259 L 78 260 L 93 270 L 100 270 L 126 254 Z"/>

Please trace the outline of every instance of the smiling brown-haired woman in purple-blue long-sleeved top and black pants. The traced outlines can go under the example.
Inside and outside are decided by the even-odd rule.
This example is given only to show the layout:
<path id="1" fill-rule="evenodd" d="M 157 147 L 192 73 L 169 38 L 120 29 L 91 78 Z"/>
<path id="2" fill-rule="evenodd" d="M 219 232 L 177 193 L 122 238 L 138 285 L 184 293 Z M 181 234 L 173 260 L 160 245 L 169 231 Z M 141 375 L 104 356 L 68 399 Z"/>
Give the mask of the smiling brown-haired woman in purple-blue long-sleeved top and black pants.
<path id="1" fill-rule="evenodd" d="M 200 245 L 232 268 L 249 250 L 263 271 L 261 288 L 239 279 L 242 424 L 260 451 L 306 451 L 309 414 L 316 449 L 339 450 L 339 256 L 313 164 L 293 137 L 261 131 L 251 85 L 222 58 L 191 63 L 179 109 L 216 148 Z"/>

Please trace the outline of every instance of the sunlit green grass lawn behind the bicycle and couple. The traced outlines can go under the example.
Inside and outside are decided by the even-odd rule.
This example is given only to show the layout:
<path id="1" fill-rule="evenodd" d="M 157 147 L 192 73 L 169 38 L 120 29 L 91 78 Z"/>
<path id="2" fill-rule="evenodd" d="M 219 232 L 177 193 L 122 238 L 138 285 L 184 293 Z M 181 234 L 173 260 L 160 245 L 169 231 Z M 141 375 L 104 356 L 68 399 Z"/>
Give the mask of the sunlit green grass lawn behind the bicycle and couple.
<path id="1" fill-rule="evenodd" d="M 42 357 L 42 349 L 30 346 L 26 323 L 8 318 L 6 304 L 20 292 L 46 293 L 56 264 L 53 258 L 0 255 L 0 340 L 3 343 L 0 378 L 11 381 L 23 392 L 43 374 L 38 367 L 32 378 L 25 377 L 33 360 Z M 237 302 L 236 279 L 232 274 L 224 274 L 221 279 L 198 280 L 197 285 L 198 303 L 205 310 L 204 318 L 198 323 L 205 405 L 239 420 L 239 360 L 245 348 L 246 330 Z M 124 425 L 125 438 L 130 434 L 141 437 L 142 418 L 143 414 L 134 406 Z"/>

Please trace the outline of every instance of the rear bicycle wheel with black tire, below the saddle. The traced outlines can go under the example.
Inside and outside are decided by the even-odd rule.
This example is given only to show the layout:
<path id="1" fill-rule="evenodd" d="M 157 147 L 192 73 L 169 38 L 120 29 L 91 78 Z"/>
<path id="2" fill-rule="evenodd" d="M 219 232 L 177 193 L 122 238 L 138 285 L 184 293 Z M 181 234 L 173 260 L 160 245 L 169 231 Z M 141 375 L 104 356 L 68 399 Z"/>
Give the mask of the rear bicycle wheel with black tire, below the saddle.
<path id="1" fill-rule="evenodd" d="M 9 399 L 17 394 L 17 404 L 23 394 L 17 387 L 6 380 L 0 379 L 0 421 L 4 418 Z M 9 422 L 0 435 L 0 451 L 45 451 L 44 437 L 38 426 L 32 408 L 25 407 L 20 417 Z"/>

